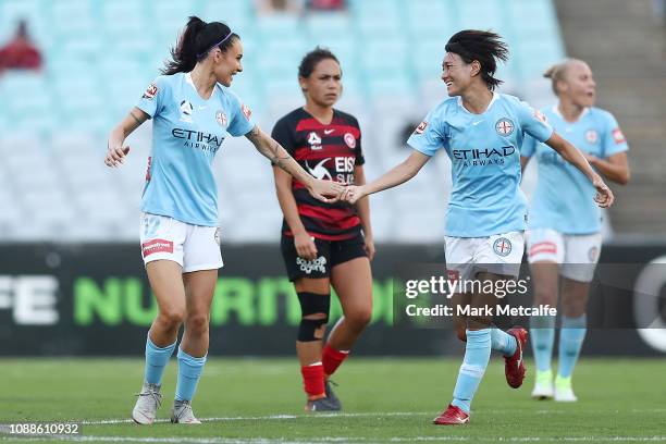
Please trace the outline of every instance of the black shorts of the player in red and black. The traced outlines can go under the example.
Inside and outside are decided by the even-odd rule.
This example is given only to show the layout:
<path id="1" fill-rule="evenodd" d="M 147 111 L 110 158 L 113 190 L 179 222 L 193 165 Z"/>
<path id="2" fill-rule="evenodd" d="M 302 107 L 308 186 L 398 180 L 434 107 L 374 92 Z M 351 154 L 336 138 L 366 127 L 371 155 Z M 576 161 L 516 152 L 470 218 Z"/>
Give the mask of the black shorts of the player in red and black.
<path id="1" fill-rule="evenodd" d="M 294 282 L 300 278 L 330 278 L 333 267 L 351 259 L 368 257 L 363 248 L 365 239 L 361 233 L 344 240 L 314 238 L 314 245 L 317 246 L 317 259 L 307 260 L 298 257 L 296 246 L 294 245 L 294 237 L 282 235 L 280 249 L 282 250 L 289 281 Z"/>

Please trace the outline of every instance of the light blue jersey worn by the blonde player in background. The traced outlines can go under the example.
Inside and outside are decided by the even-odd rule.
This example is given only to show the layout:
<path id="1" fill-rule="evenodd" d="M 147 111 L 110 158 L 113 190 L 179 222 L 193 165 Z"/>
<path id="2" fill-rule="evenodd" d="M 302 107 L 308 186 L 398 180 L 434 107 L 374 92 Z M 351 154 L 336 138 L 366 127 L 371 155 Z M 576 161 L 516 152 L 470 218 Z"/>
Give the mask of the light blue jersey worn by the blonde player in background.
<path id="1" fill-rule="evenodd" d="M 543 110 L 547 122 L 576 148 L 600 159 L 629 149 L 617 121 L 607 111 L 585 109 L 577 122 L 564 120 L 557 107 Z M 527 137 L 521 156 L 536 157 L 539 180 L 530 203 L 530 229 L 553 229 L 564 234 L 590 234 L 601 230 L 596 190 L 590 180 L 562 156 Z"/>

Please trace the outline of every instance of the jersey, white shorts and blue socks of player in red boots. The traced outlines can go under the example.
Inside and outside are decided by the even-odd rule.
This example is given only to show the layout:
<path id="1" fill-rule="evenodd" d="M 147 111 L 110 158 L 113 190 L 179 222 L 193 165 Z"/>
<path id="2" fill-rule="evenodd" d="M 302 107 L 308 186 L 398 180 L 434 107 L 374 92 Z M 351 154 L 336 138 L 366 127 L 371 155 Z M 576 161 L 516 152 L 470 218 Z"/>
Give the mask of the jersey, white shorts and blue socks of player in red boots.
<path id="1" fill-rule="evenodd" d="M 407 140 L 427 156 L 444 149 L 451 158 L 446 262 L 462 279 L 471 279 L 478 271 L 518 274 L 527 224 L 527 202 L 520 190 L 520 148 L 527 134 L 545 141 L 553 130 L 518 98 L 494 94 L 481 114 L 467 111 L 459 97 L 444 100 Z M 491 348 L 510 356 L 516 347 L 514 336 L 498 329 L 467 330 L 452 404 L 469 412 Z"/>

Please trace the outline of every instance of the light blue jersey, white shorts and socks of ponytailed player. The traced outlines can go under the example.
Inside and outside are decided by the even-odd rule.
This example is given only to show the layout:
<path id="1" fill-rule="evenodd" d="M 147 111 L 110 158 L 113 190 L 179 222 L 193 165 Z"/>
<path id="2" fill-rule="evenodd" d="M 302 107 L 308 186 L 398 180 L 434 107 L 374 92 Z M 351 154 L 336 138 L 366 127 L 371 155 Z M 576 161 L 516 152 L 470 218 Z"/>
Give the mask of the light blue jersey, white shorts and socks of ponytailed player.
<path id="1" fill-rule="evenodd" d="M 159 76 L 137 107 L 152 119 L 141 202 L 141 252 L 146 263 L 166 259 L 183 272 L 222 267 L 218 231 L 218 188 L 212 161 L 226 134 L 243 136 L 254 124 L 250 110 L 215 84 L 199 96 L 189 73 Z M 146 342 L 145 383 L 160 385 L 175 343 Z M 192 400 L 206 362 L 178 348 L 176 399 Z"/>

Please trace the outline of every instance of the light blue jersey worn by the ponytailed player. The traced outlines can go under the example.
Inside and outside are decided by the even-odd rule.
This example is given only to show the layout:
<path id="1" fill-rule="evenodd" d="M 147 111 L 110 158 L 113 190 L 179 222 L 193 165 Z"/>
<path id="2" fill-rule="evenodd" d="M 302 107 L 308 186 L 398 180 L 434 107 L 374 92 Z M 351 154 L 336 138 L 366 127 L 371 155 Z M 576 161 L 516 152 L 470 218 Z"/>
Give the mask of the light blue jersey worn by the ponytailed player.
<path id="1" fill-rule="evenodd" d="M 202 99 L 189 73 L 159 76 L 137 107 L 152 118 L 141 211 L 217 226 L 211 164 L 226 133 L 243 136 L 252 130 L 249 108 L 220 84 Z"/>

